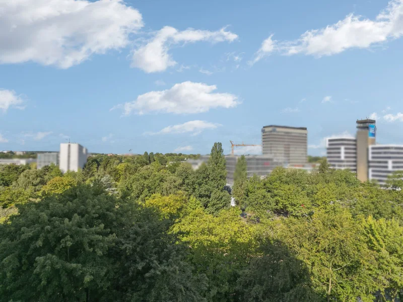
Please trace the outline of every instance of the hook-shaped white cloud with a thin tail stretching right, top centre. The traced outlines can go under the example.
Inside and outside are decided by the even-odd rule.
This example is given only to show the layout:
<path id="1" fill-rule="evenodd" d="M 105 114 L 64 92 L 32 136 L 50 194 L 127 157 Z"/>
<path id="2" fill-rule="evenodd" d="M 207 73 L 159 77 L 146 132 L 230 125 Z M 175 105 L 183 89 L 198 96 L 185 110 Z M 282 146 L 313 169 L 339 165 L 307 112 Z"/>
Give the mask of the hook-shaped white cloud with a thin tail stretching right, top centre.
<path id="1" fill-rule="evenodd" d="M 165 26 L 157 31 L 145 45 L 141 45 L 133 52 L 131 66 L 143 69 L 148 73 L 164 71 L 177 64 L 169 54 L 172 45 L 197 41 L 232 42 L 237 38 L 238 35 L 226 31 L 225 27 L 212 32 L 192 28 L 178 31 L 176 28 Z"/>

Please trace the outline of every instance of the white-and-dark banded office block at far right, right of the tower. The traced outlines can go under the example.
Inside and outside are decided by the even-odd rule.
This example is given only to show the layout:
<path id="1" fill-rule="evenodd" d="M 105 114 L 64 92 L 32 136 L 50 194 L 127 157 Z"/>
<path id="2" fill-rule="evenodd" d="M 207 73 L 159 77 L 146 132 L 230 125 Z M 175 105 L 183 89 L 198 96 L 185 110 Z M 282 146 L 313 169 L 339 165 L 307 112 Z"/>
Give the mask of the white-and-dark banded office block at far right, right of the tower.
<path id="1" fill-rule="evenodd" d="M 369 173 L 370 180 L 380 185 L 395 171 L 403 170 L 403 145 L 370 145 Z"/>

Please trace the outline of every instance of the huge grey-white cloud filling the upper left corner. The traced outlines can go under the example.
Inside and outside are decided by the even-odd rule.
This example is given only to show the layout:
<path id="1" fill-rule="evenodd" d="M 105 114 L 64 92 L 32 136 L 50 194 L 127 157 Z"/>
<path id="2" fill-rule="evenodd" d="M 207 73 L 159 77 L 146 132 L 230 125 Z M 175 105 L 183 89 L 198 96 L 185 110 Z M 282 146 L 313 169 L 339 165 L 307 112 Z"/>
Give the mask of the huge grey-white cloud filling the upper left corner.
<path id="1" fill-rule="evenodd" d="M 121 49 L 143 27 L 121 0 L 0 1 L 0 63 L 27 61 L 69 68 Z"/>

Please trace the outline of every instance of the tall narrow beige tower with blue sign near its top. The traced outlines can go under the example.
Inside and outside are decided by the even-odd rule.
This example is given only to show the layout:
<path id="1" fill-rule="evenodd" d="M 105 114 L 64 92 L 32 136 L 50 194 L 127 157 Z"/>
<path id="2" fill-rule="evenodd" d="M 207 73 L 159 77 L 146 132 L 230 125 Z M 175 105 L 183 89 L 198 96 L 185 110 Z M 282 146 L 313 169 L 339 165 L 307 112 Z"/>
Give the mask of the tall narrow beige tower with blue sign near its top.
<path id="1" fill-rule="evenodd" d="M 375 120 L 357 120 L 357 178 L 368 180 L 368 147 L 375 144 Z"/>

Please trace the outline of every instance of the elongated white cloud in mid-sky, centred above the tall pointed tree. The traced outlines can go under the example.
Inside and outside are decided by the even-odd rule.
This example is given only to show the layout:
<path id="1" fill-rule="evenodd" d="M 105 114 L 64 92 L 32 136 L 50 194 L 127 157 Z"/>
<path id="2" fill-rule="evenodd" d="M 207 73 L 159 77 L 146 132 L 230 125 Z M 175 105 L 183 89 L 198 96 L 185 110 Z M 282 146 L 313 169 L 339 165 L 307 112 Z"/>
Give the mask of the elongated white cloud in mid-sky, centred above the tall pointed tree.
<path id="1" fill-rule="evenodd" d="M 113 109 L 121 108 L 123 115 L 132 112 L 145 114 L 150 112 L 163 113 L 200 113 L 211 108 L 231 108 L 239 104 L 237 97 L 229 93 L 214 93 L 215 85 L 203 83 L 183 82 L 163 91 L 151 91 L 140 95 L 135 101 L 117 105 Z"/>

